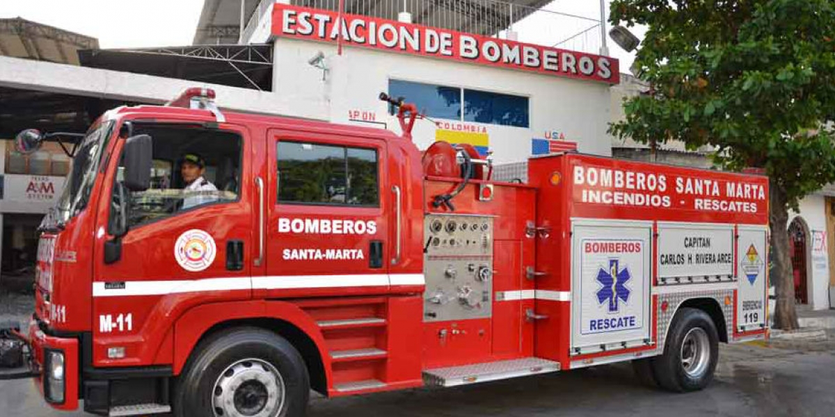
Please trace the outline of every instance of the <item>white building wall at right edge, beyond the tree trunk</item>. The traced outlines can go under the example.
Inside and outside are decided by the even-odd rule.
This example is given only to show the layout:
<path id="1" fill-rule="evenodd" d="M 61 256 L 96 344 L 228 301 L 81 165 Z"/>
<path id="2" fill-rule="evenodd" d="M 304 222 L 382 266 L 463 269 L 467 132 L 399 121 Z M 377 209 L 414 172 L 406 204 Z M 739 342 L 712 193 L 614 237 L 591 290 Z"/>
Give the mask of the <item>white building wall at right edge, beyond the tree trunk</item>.
<path id="1" fill-rule="evenodd" d="M 812 309 L 829 309 L 829 263 L 826 246 L 820 246 L 820 240 L 826 241 L 827 219 L 824 204 L 826 198 L 812 194 L 800 201 L 800 213 L 789 213 L 788 224 L 800 216 L 807 225 L 807 287 L 809 304 Z M 817 236 L 817 246 L 816 246 Z"/>

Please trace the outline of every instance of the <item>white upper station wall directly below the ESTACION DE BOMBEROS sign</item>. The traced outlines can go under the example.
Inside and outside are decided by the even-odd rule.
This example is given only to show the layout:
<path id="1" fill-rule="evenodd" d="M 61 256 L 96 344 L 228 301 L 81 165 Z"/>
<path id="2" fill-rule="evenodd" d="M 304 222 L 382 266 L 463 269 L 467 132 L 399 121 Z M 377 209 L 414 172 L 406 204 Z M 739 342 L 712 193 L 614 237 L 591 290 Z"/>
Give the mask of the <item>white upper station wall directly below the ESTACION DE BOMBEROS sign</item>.
<path id="1" fill-rule="evenodd" d="M 357 123 L 350 122 L 349 112 L 358 111 L 400 133 L 397 118 L 389 116 L 387 104 L 377 98 L 394 78 L 528 97 L 529 128 L 439 120 L 486 128 L 498 163 L 524 160 L 531 153 L 532 138 L 545 138 L 546 132 L 554 131 L 577 142 L 580 152 L 611 154 L 606 133 L 610 86 L 605 83 L 363 48 L 343 48 L 339 56 L 334 45 L 286 38 L 277 38 L 275 48 L 274 92 L 293 101 L 323 100 L 332 122 Z M 326 56 L 325 81 L 322 70 L 307 62 L 319 51 Z M 433 143 L 435 130 L 433 123 L 417 121 L 412 132 L 417 146 Z"/>

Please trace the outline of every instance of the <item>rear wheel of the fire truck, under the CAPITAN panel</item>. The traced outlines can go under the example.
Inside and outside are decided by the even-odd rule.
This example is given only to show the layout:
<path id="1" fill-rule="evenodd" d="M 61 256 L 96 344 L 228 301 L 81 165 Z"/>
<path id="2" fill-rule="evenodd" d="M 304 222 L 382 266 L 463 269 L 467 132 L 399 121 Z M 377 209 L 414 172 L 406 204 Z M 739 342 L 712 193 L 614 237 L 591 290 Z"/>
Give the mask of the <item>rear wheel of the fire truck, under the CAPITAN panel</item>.
<path id="1" fill-rule="evenodd" d="M 719 335 L 711 316 L 683 308 L 673 319 L 664 354 L 653 358 L 651 367 L 661 388 L 690 392 L 711 383 L 718 359 Z"/>

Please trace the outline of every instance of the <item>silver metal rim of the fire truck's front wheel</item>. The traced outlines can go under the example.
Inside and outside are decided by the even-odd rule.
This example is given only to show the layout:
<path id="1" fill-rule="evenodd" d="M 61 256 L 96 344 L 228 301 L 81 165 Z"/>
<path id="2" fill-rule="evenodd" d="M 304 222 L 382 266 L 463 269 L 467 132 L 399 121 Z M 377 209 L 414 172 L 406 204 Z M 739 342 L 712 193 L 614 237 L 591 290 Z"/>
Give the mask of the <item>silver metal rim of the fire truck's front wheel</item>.
<path id="1" fill-rule="evenodd" d="M 284 379 L 261 359 L 231 364 L 215 381 L 215 417 L 275 417 L 284 407 Z"/>

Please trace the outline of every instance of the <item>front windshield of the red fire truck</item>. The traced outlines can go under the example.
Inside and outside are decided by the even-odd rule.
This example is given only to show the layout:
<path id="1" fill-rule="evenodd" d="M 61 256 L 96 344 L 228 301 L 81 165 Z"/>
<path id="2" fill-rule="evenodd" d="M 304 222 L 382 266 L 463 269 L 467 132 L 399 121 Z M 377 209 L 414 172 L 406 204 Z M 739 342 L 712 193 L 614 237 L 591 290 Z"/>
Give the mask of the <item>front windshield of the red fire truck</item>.
<path id="1" fill-rule="evenodd" d="M 113 121 L 101 123 L 78 143 L 73 169 L 67 177 L 58 203 L 43 219 L 43 229 L 60 228 L 87 206 L 113 127 Z"/>

